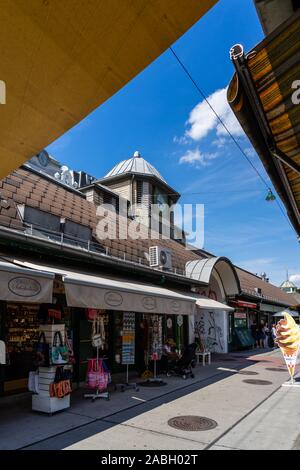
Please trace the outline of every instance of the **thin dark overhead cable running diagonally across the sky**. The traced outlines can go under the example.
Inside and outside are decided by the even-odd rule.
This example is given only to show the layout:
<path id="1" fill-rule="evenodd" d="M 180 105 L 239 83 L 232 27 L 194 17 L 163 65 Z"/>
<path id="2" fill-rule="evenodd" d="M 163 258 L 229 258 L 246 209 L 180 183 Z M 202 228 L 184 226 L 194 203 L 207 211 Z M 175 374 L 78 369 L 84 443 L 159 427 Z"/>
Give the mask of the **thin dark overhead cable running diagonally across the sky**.
<path id="1" fill-rule="evenodd" d="M 269 190 L 270 189 L 270 186 L 268 185 L 267 181 L 265 180 L 265 178 L 261 175 L 261 173 L 258 171 L 258 169 L 256 168 L 256 166 L 251 162 L 250 158 L 248 157 L 248 155 L 246 154 L 246 152 L 244 151 L 244 149 L 241 147 L 241 145 L 239 144 L 239 142 L 237 141 L 237 139 L 234 137 L 234 135 L 232 134 L 232 132 L 230 132 L 230 130 L 228 129 L 228 127 L 226 126 L 226 124 L 224 123 L 223 119 L 219 116 L 219 114 L 217 113 L 217 111 L 214 109 L 214 107 L 210 104 L 210 102 L 208 101 L 206 95 L 203 93 L 203 91 L 201 90 L 201 88 L 199 87 L 199 85 L 197 84 L 197 82 L 194 80 L 194 78 L 192 77 L 192 75 L 190 74 L 190 72 L 188 71 L 188 69 L 186 68 L 186 66 L 184 65 L 184 63 L 180 60 L 180 58 L 178 57 L 178 55 L 176 54 L 176 52 L 174 51 L 174 49 L 169 46 L 169 49 L 170 51 L 172 52 L 173 56 L 175 57 L 175 59 L 177 60 L 177 62 L 179 63 L 179 65 L 181 66 L 181 68 L 183 69 L 183 71 L 186 73 L 186 75 L 189 77 L 189 79 L 191 80 L 191 82 L 193 83 L 193 85 L 195 86 L 195 88 L 197 89 L 197 91 L 200 93 L 200 95 L 202 96 L 202 98 L 204 99 L 204 101 L 206 102 L 206 104 L 209 106 L 209 108 L 211 109 L 211 111 L 214 113 L 214 115 L 216 116 L 216 118 L 218 119 L 218 121 L 220 122 L 220 124 L 224 127 L 224 129 L 226 130 L 226 132 L 228 133 L 228 135 L 230 136 L 230 138 L 232 139 L 232 141 L 235 143 L 235 145 L 237 146 L 237 148 L 239 149 L 239 151 L 242 153 L 242 155 L 244 155 L 244 157 L 246 158 L 247 162 L 249 163 L 249 165 L 251 165 L 251 167 L 253 168 L 253 170 L 255 171 L 255 173 L 257 174 L 257 176 L 260 178 L 260 180 L 263 182 L 263 184 L 266 186 L 266 188 Z M 284 217 L 286 218 L 287 222 L 289 223 L 289 225 L 292 227 L 292 229 L 294 230 L 294 227 L 293 225 L 291 224 L 291 221 L 290 219 L 287 217 L 286 213 L 284 212 L 284 210 L 282 209 L 281 205 L 279 204 L 279 201 L 277 200 L 277 198 L 275 199 L 281 213 L 284 215 Z"/>

